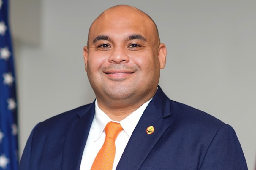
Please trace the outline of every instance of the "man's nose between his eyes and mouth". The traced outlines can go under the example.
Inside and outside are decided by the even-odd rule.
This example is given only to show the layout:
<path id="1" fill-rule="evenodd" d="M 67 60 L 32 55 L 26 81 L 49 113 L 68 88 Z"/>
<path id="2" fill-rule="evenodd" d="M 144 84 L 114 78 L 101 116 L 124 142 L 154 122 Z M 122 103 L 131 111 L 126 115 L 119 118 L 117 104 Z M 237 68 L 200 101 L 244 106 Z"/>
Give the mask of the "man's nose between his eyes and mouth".
<path id="1" fill-rule="evenodd" d="M 111 63 L 126 63 L 129 60 L 129 56 L 125 53 L 125 48 L 122 47 L 115 47 L 108 58 Z"/>

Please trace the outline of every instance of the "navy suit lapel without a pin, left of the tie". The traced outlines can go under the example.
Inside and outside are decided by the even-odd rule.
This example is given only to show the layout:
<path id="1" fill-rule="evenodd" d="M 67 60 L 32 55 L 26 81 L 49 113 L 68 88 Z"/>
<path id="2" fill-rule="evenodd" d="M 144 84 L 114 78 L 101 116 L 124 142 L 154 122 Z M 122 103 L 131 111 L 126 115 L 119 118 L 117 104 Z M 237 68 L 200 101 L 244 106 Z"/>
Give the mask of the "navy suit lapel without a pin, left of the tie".
<path id="1" fill-rule="evenodd" d="M 77 113 L 76 119 L 69 127 L 66 135 L 62 170 L 79 170 L 86 140 L 89 135 L 92 120 L 95 114 L 95 102 L 88 110 Z"/>

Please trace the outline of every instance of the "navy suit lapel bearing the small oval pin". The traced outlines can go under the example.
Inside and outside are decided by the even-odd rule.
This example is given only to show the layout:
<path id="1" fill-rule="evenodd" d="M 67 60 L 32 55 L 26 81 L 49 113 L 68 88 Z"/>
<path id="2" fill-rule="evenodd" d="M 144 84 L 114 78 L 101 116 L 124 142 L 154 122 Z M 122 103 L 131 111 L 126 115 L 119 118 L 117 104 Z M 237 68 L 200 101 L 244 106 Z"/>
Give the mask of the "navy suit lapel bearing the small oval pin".
<path id="1" fill-rule="evenodd" d="M 148 104 L 127 143 L 117 170 L 140 168 L 154 145 L 170 126 L 170 115 L 170 100 L 158 86 L 157 93 Z M 146 129 L 151 125 L 154 126 L 155 131 L 148 135 Z"/>

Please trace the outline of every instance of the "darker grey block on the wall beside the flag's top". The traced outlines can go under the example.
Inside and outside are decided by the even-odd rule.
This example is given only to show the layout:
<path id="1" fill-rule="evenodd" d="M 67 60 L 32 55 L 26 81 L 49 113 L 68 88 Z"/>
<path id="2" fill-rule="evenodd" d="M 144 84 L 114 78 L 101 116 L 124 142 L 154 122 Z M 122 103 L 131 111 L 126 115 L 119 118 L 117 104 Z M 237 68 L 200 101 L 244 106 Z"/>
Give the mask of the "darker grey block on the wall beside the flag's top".
<path id="1" fill-rule="evenodd" d="M 10 27 L 12 38 L 29 46 L 41 41 L 41 1 L 10 1 Z"/>

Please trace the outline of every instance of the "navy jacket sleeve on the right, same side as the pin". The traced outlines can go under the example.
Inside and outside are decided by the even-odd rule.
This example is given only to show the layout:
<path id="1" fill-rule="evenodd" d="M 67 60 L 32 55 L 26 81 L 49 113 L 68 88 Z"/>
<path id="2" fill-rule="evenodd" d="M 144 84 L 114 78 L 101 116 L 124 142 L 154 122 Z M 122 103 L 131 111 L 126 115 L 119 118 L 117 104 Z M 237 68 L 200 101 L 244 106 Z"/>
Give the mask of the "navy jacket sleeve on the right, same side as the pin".
<path id="1" fill-rule="evenodd" d="M 208 147 L 200 170 L 248 170 L 241 145 L 234 129 L 223 125 Z"/>

